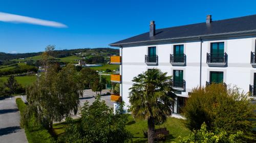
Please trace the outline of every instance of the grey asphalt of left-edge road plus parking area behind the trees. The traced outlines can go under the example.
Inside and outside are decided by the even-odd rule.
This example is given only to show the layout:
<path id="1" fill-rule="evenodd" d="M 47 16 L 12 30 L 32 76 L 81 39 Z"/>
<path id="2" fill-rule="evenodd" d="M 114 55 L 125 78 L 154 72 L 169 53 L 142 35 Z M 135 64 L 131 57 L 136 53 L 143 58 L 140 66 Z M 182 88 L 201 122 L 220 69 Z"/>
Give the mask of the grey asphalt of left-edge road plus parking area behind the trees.
<path id="1" fill-rule="evenodd" d="M 110 100 L 110 95 L 104 95 L 109 90 L 103 90 L 101 100 L 105 100 L 106 105 L 113 108 L 113 102 Z M 73 118 L 80 117 L 80 107 L 83 106 L 84 102 L 88 101 L 91 105 L 95 101 L 96 94 L 91 90 L 84 90 L 83 97 L 79 98 L 80 105 L 77 116 Z M 26 143 L 27 138 L 25 135 L 25 130 L 21 129 L 19 126 L 20 113 L 18 111 L 15 99 L 21 98 L 20 96 L 15 96 L 10 98 L 0 98 L 0 142 L 1 143 Z M 26 96 L 22 98 L 26 100 Z M 64 120 L 64 119 L 63 119 Z"/>

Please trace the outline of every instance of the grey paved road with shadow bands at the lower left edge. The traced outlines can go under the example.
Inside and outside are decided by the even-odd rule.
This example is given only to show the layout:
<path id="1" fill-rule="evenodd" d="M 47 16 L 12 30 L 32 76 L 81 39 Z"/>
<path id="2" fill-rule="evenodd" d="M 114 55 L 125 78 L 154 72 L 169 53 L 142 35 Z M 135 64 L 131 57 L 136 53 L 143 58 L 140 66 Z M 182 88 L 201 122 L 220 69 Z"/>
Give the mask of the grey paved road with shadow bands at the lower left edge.
<path id="1" fill-rule="evenodd" d="M 25 130 L 19 127 L 20 114 L 15 102 L 19 96 L 0 98 L 0 142 L 25 143 L 28 142 Z"/>

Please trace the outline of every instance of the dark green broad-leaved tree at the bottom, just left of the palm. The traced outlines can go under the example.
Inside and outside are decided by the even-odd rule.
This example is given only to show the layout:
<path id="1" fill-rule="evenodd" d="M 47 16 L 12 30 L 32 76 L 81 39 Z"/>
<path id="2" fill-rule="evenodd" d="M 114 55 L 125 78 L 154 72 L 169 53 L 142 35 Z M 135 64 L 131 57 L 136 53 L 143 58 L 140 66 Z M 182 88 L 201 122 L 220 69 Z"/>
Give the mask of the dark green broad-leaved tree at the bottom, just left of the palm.
<path id="1" fill-rule="evenodd" d="M 120 106 L 122 108 L 123 104 Z M 91 106 L 84 103 L 81 110 L 81 118 L 78 123 L 71 118 L 66 119 L 68 125 L 65 134 L 59 139 L 62 142 L 125 142 L 132 137 L 125 129 L 128 121 L 127 115 L 119 111 L 114 114 L 105 101 L 100 101 L 100 96 Z"/>

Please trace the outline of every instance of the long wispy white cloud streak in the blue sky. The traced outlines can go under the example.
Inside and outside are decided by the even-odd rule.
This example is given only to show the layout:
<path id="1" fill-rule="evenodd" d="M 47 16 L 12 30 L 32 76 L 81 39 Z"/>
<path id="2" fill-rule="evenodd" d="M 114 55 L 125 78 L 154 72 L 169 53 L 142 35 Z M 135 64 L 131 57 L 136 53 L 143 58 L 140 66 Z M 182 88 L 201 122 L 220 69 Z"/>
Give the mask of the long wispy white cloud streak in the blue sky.
<path id="1" fill-rule="evenodd" d="M 22 16 L 22 15 L 3 13 L 3 12 L 0 12 L 0 21 L 14 22 L 14 23 L 28 23 L 28 24 L 50 26 L 50 27 L 57 27 L 57 28 L 68 27 L 67 25 L 56 22 L 56 21 L 43 20 L 43 19 L 32 18 L 32 17 Z"/>

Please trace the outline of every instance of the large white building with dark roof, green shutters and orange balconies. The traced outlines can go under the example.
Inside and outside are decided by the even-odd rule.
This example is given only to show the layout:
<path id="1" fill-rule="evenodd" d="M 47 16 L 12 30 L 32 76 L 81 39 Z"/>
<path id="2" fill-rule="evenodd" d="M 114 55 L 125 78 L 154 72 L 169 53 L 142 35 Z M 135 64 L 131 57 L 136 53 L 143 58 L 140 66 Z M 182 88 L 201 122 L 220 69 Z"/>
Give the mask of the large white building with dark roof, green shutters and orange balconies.
<path id="1" fill-rule="evenodd" d="M 157 30 L 151 21 L 150 32 L 110 44 L 120 47 L 120 56 L 111 58 L 120 64 L 120 75 L 111 78 L 120 83 L 120 95 L 111 98 L 129 105 L 133 77 L 152 68 L 173 77 L 174 116 L 193 88 L 212 82 L 238 85 L 256 97 L 255 40 L 256 15 L 217 21 L 207 15 L 206 22 Z"/>

